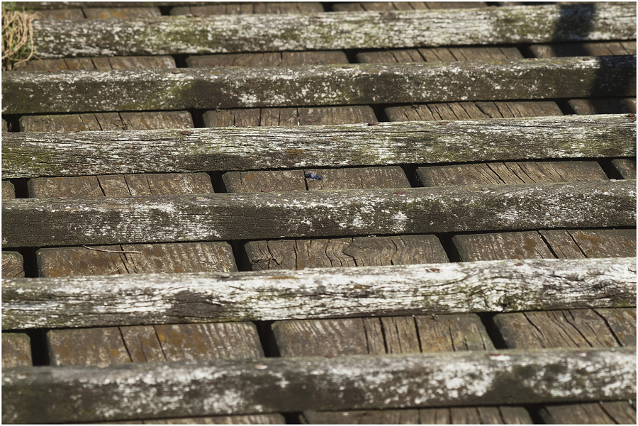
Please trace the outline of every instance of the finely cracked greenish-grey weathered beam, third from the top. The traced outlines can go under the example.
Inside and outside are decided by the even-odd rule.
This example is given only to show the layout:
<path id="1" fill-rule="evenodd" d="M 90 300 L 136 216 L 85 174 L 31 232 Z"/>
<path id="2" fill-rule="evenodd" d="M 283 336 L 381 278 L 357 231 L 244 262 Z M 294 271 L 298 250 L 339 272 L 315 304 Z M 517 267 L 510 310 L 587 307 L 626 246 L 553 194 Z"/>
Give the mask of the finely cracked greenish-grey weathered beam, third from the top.
<path id="1" fill-rule="evenodd" d="M 635 117 L 6 133 L 4 178 L 632 157 Z"/>

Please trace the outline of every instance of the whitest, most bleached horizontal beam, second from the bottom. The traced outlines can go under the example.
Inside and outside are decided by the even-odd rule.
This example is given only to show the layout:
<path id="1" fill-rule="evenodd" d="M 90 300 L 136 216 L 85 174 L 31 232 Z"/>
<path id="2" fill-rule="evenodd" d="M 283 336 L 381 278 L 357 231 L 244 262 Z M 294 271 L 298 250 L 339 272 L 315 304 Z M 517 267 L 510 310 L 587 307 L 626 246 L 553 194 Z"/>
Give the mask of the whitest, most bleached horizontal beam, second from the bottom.
<path id="1" fill-rule="evenodd" d="M 2 327 L 608 308 L 635 287 L 632 257 L 5 279 Z"/>

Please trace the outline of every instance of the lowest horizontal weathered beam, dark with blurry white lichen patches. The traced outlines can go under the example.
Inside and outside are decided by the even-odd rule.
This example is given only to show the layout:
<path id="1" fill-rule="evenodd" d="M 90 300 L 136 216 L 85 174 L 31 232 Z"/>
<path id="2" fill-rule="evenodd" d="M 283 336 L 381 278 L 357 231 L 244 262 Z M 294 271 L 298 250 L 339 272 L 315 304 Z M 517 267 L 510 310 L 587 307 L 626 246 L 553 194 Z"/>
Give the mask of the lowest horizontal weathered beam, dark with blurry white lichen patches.
<path id="1" fill-rule="evenodd" d="M 22 367 L 3 372 L 2 419 L 86 422 L 632 398 L 635 357 L 627 349 L 568 349 Z"/>

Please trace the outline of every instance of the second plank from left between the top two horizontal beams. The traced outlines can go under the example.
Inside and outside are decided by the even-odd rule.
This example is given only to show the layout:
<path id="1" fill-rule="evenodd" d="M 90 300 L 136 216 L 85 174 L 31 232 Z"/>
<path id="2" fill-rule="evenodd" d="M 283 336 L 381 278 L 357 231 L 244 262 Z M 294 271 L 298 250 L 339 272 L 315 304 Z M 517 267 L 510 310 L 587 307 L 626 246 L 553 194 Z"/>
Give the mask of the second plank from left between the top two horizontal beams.
<path id="1" fill-rule="evenodd" d="M 308 52 L 222 53 L 186 58 L 186 65 L 203 67 L 298 67 L 299 65 L 347 64 L 344 52 L 320 50 Z"/>

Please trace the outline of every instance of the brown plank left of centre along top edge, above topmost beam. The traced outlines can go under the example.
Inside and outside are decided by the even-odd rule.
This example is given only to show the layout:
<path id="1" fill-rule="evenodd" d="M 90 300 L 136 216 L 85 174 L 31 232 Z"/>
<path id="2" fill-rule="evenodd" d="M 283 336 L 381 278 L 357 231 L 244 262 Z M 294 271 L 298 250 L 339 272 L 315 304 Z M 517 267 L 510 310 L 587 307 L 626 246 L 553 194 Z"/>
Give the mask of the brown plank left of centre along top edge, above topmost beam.
<path id="1" fill-rule="evenodd" d="M 215 3 L 206 6 L 175 6 L 171 15 L 238 15 L 242 13 L 318 13 L 323 12 L 323 5 L 318 2 L 279 2 L 267 3 Z"/>

